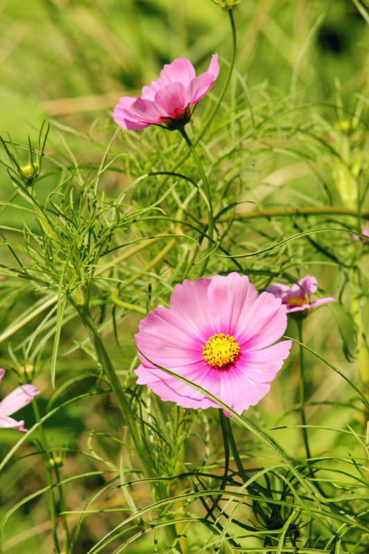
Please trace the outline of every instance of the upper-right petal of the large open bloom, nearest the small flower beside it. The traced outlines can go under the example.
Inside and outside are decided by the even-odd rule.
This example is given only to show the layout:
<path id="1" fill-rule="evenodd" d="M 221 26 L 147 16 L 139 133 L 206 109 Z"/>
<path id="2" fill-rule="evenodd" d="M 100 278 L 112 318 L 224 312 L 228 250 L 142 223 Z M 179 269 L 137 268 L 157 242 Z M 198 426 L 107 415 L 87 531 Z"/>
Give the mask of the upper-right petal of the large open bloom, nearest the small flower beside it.
<path id="1" fill-rule="evenodd" d="M 286 327 L 286 309 L 280 298 L 270 292 L 262 292 L 244 321 L 240 322 L 235 340 L 241 348 L 264 348 L 278 341 Z"/>

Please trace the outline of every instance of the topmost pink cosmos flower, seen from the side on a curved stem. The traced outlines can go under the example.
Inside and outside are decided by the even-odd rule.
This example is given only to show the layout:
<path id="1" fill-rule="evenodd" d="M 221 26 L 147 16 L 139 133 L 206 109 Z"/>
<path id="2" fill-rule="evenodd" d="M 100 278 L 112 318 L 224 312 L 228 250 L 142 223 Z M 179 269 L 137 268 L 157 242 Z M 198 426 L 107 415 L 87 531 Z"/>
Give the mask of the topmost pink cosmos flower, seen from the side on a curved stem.
<path id="1" fill-rule="evenodd" d="M 123 129 L 143 129 L 150 125 L 171 126 L 171 120 L 188 123 L 196 105 L 212 87 L 219 73 L 218 55 L 213 54 L 206 73 L 195 77 L 190 60 L 180 57 L 165 64 L 160 78 L 150 87 L 143 87 L 140 98 L 122 96 L 113 112 L 117 125 Z M 192 110 L 193 111 L 193 110 Z"/>

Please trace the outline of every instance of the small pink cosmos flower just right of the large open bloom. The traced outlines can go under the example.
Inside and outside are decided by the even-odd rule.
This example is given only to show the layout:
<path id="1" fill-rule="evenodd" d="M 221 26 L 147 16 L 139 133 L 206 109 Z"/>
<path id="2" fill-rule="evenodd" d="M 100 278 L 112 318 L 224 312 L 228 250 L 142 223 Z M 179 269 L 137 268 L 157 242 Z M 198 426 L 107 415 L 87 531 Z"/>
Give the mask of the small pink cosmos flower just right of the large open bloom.
<path id="1" fill-rule="evenodd" d="M 313 307 L 320 306 L 326 302 L 336 302 L 334 298 L 327 296 L 326 298 L 319 298 L 313 302 L 309 301 L 309 296 L 314 294 L 318 285 L 316 284 L 316 278 L 307 275 L 306 277 L 298 280 L 297 283 L 288 287 L 282 283 L 275 283 L 270 287 L 267 287 L 267 292 L 274 294 L 276 298 L 282 298 L 282 304 L 287 307 L 287 312 L 303 312 L 304 310 L 310 310 Z"/>

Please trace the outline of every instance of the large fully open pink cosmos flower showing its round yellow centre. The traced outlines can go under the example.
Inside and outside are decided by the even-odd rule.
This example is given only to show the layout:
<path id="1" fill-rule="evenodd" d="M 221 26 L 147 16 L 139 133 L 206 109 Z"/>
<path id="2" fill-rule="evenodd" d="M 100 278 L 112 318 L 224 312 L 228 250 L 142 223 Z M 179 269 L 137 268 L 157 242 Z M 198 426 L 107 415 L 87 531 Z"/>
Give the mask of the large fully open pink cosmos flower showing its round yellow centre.
<path id="1" fill-rule="evenodd" d="M 219 408 L 158 364 L 242 413 L 267 394 L 289 355 L 291 341 L 275 344 L 286 326 L 280 298 L 269 292 L 258 296 L 246 276 L 186 279 L 174 287 L 170 308 L 157 307 L 140 322 L 135 338 L 143 355 L 138 352 L 137 383 L 185 408 Z"/>

